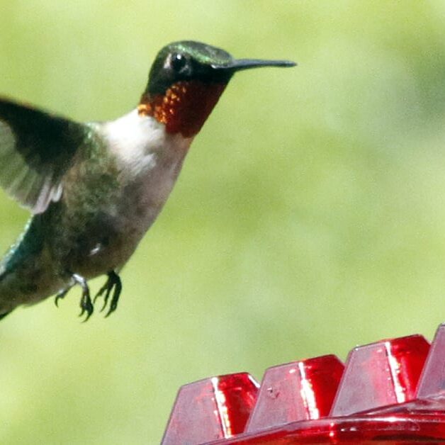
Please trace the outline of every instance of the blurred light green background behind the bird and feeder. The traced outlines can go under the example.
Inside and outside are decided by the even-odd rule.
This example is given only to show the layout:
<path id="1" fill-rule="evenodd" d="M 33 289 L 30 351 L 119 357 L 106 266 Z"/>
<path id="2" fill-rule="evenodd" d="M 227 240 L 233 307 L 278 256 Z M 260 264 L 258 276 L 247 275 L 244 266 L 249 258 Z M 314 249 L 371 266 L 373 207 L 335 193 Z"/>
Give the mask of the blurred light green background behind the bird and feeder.
<path id="1" fill-rule="evenodd" d="M 237 74 L 124 269 L 0 323 L 1 444 L 156 444 L 179 386 L 445 319 L 444 1 L 0 0 L 0 94 L 129 111 L 174 40 L 295 69 Z M 28 218 L 0 196 L 0 248 Z M 103 279 L 94 281 L 94 291 Z"/>

